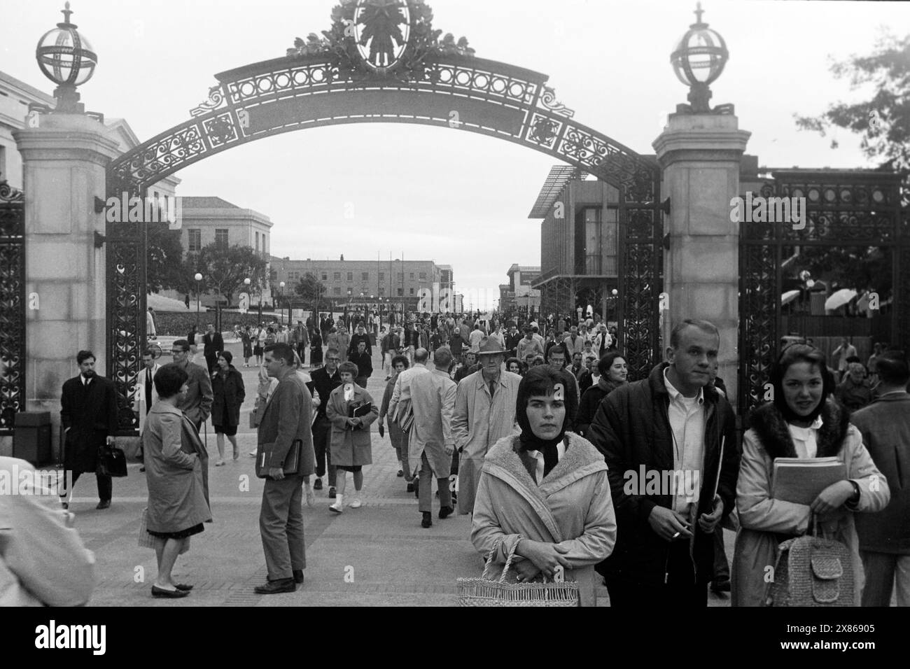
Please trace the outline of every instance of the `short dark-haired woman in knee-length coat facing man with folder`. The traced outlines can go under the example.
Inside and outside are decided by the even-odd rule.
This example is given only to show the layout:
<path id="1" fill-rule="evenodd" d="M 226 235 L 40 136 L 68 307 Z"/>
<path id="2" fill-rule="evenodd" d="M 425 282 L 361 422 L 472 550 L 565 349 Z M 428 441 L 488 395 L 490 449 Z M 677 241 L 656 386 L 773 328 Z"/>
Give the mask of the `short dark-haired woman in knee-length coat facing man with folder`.
<path id="1" fill-rule="evenodd" d="M 187 392 L 187 372 L 167 364 L 155 375 L 158 401 L 148 413 L 142 446 L 148 485 L 147 532 L 157 539 L 158 575 L 153 597 L 186 597 L 191 585 L 174 583 L 177 555 L 212 518 L 208 506 L 208 455 L 196 426 L 177 409 Z"/>

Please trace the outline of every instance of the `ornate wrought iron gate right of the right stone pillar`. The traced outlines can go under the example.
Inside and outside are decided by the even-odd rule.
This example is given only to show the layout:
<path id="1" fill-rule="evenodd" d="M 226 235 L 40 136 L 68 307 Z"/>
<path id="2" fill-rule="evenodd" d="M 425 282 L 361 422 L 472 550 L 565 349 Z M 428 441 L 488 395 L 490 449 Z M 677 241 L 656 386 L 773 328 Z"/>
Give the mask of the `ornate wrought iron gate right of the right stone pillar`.
<path id="1" fill-rule="evenodd" d="M 805 228 L 743 222 L 740 229 L 739 414 L 763 401 L 781 337 L 784 249 L 885 247 L 892 251 L 893 346 L 910 345 L 910 222 L 901 176 L 875 171 L 773 170 L 758 195 L 805 198 Z M 769 208 L 770 210 L 770 208 Z"/>

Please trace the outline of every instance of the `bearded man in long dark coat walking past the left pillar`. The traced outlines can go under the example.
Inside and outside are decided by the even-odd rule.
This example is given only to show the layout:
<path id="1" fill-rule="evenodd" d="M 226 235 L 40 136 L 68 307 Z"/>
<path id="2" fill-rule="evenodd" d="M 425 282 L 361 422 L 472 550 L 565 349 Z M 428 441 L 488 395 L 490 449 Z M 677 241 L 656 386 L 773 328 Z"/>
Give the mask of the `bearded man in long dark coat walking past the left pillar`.
<path id="1" fill-rule="evenodd" d="M 64 492 L 64 508 L 69 508 L 73 488 L 82 473 L 96 474 L 97 509 L 108 508 L 114 493 L 111 477 L 97 473 L 97 469 L 98 450 L 106 443 L 113 445 L 117 431 L 116 389 L 113 381 L 96 374 L 95 360 L 90 350 L 78 352 L 79 375 L 66 380 L 60 396 L 60 421 L 66 434 L 64 471 L 73 475 L 69 490 Z"/>

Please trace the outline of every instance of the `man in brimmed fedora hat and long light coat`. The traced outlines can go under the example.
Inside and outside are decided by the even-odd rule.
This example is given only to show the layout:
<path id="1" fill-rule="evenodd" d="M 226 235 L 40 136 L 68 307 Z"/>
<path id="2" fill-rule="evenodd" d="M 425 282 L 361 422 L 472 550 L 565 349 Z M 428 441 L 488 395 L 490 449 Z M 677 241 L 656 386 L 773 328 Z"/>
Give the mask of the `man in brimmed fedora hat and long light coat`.
<path id="1" fill-rule="evenodd" d="M 502 370 L 505 350 L 495 337 L 480 340 L 480 370 L 458 384 L 452 436 L 459 458 L 459 513 L 474 510 L 483 459 L 496 441 L 510 435 L 521 376 Z"/>

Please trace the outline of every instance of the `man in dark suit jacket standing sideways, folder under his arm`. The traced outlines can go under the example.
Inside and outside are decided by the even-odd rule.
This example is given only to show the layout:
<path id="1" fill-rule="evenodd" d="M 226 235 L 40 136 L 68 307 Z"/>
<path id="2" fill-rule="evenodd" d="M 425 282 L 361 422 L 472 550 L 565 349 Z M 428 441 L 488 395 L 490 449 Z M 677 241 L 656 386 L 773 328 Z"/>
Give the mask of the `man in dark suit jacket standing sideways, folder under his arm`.
<path id="1" fill-rule="evenodd" d="M 268 399 L 259 423 L 258 443 L 274 444 L 268 462 L 268 478 L 262 490 L 259 533 L 266 554 L 268 583 L 258 585 L 258 594 L 293 593 L 303 583 L 307 554 L 303 543 L 303 481 L 313 473 L 313 400 L 294 368 L 294 350 L 288 344 L 271 344 L 265 350 L 268 376 L 278 387 Z M 301 443 L 298 443 L 301 442 Z M 284 471 L 284 462 L 299 448 L 297 471 Z"/>

